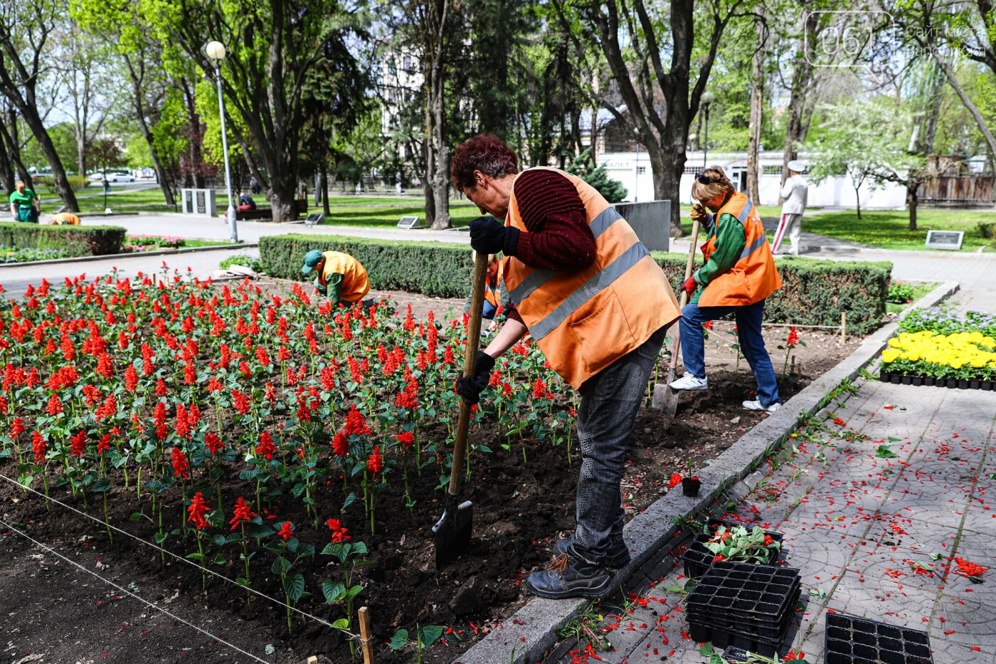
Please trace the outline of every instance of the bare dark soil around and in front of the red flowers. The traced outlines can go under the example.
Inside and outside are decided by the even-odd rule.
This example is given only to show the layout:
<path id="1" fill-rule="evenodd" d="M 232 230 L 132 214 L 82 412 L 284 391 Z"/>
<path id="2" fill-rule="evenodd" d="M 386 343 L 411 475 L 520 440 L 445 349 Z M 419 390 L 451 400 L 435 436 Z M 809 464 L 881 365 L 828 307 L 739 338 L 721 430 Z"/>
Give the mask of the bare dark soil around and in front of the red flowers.
<path id="1" fill-rule="evenodd" d="M 401 307 L 407 301 L 403 295 L 395 295 L 394 299 Z M 426 311 L 428 307 L 438 307 L 441 309 L 438 313 L 449 306 L 462 308 L 462 302 L 454 305 L 453 300 L 432 301 L 421 296 L 412 299 L 419 309 L 424 307 Z M 418 309 L 415 313 L 424 315 Z M 717 324 L 717 330 L 720 326 Z M 769 340 L 773 354 L 779 352 L 773 347 L 778 338 L 784 338 L 784 333 L 777 330 Z M 783 400 L 851 352 L 852 344 L 841 346 L 829 335 L 804 338 L 810 343 L 807 349 L 819 350 L 806 357 L 804 376 L 780 380 Z M 718 343 L 715 338 L 713 343 Z M 640 411 L 623 479 L 627 512 L 635 513 L 666 493 L 670 474 L 685 471 L 689 460 L 693 468 L 703 467 L 766 417 L 741 406 L 743 400 L 751 398 L 754 389 L 753 378 L 745 370 L 746 363 L 741 361 L 738 373 L 716 369 L 724 361 L 721 349 L 717 348 L 714 345 L 710 350 L 715 357 L 710 360 L 713 368 L 709 373 L 709 390 L 682 396 L 677 418 L 669 429 L 664 430 L 665 421 L 658 412 Z M 732 368 L 733 356 L 726 359 Z M 780 369 L 780 362 L 776 361 L 776 365 Z M 661 368 L 661 380 L 665 372 L 666 368 Z M 445 438 L 441 427 L 436 434 L 440 439 Z M 385 642 L 398 628 L 414 635 L 416 622 L 447 629 L 444 645 L 432 647 L 424 654 L 423 661 L 452 661 L 527 601 L 521 579 L 545 565 L 553 542 L 573 531 L 580 468 L 577 457 L 569 465 L 564 446 L 522 443 L 518 439 L 507 441 L 486 425 L 472 430 L 471 443 L 484 444 L 493 450 L 503 443 L 510 444 L 512 454 L 471 456 L 473 479 L 464 493 L 474 502 L 474 539 L 470 551 L 458 562 L 441 571 L 434 568 L 430 527 L 442 513 L 439 499 L 443 496 L 435 489 L 439 475 L 436 467 L 425 469 L 421 478 L 409 478 L 415 501 L 410 511 L 403 506 L 404 488 L 399 479 L 389 483 L 377 496 L 375 535 L 363 526 L 363 506 L 359 500 L 344 512 L 344 520 L 348 518 L 356 539 L 362 539 L 370 547 L 370 555 L 366 557 L 371 563 L 358 568 L 354 582 L 365 586 L 357 605 L 370 608 L 378 664 L 414 661 L 410 645 L 392 651 Z M 577 454 L 576 446 L 573 454 Z M 18 475 L 16 465 L 11 462 L 0 465 L 0 473 L 15 478 Z M 243 484 L 237 478 L 225 481 L 226 505 L 236 496 L 252 495 L 253 488 L 239 486 Z M 342 488 L 332 482 L 327 489 L 316 497 L 318 513 L 337 514 L 343 501 Z M 137 509 L 133 489 L 126 493 L 122 488 L 115 491 L 110 501 L 112 522 L 151 541 L 156 527 L 150 519 L 139 516 L 137 520 L 129 520 L 129 515 Z M 53 497 L 73 503 L 66 490 L 55 490 Z M 295 523 L 310 520 L 299 500 L 289 500 L 288 505 L 301 507 L 301 511 L 285 512 L 277 505 L 274 511 L 279 520 L 290 519 Z M 176 514 L 179 509 L 179 504 L 167 507 L 167 511 Z M 100 517 L 100 506 L 91 505 L 91 513 Z M 7 523 L 22 524 L 31 537 L 52 545 L 123 587 L 133 583 L 136 594 L 144 599 L 165 606 L 177 616 L 239 644 L 265 661 L 303 662 L 309 655 L 320 653 L 328 656 L 328 661 L 349 661 L 347 644 L 339 632 L 299 616 L 291 638 L 282 604 L 254 598 L 248 608 L 241 588 L 210 577 L 207 592 L 202 593 L 195 565 L 167 558 L 166 565 L 161 566 L 154 549 L 121 534 L 111 544 L 102 524 L 58 505 L 46 512 L 41 498 L 26 495 L 8 482 L 0 482 L 0 518 Z M 29 653 L 41 653 L 46 659 L 37 661 L 87 662 L 105 658 L 128 662 L 190 661 L 191 654 L 199 662 L 254 661 L 221 647 L 189 626 L 157 615 L 137 600 L 126 596 L 117 599 L 123 597 L 121 592 L 72 569 L 69 563 L 48 552 L 33 549 L 17 534 L 4 535 L 0 538 L 0 556 L 6 561 L 0 571 L 3 579 L 0 605 L 6 610 L 0 614 L 0 627 L 13 648 L 4 653 L 5 660 L 17 662 Z M 183 556 L 195 550 L 192 542 L 190 538 L 181 544 L 178 537 L 170 537 L 167 545 Z M 214 569 L 232 578 L 240 575 L 238 550 L 222 549 L 222 553 L 226 564 Z M 263 558 L 261 554 L 255 560 L 253 587 L 279 597 L 279 578 L 273 578 L 269 558 Z M 329 622 L 342 617 L 341 607 L 323 603 L 320 590 L 321 580 L 340 577 L 338 564 L 332 564 L 328 556 L 317 555 L 299 565 L 308 580 L 308 589 L 315 593 L 303 599 L 299 607 Z M 264 655 L 266 644 L 274 646 L 270 656 Z M 36 660 L 23 660 L 25 664 L 31 661 Z"/>

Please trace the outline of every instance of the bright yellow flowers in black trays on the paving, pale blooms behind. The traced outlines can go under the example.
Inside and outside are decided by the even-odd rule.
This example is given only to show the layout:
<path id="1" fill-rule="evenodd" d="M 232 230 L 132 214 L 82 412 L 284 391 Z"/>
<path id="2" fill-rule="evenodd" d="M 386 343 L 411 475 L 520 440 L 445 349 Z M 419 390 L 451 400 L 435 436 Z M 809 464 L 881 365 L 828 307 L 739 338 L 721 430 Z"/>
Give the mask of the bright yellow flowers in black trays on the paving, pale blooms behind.
<path id="1" fill-rule="evenodd" d="M 996 381 L 996 317 L 970 311 L 916 309 L 881 354 L 883 381 L 992 390 Z"/>

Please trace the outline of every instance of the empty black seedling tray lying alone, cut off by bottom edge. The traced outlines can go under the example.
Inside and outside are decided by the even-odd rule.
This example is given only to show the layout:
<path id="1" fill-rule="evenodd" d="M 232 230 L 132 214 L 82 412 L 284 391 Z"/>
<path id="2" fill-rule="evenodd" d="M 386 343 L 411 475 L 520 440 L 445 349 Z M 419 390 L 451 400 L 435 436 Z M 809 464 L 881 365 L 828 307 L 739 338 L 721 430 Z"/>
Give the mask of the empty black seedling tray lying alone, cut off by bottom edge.
<path id="1" fill-rule="evenodd" d="M 926 632 L 828 613 L 826 664 L 933 664 Z"/>

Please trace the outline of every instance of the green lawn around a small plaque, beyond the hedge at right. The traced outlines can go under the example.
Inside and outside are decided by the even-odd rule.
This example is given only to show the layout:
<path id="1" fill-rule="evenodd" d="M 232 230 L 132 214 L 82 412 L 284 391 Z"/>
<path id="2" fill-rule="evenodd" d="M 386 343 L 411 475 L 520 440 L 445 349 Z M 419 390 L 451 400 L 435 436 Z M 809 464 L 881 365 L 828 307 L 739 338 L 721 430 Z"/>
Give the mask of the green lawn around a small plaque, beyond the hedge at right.
<path id="1" fill-rule="evenodd" d="M 859 219 L 854 210 L 807 212 L 803 230 L 868 244 L 881 249 L 916 249 L 925 247 L 927 230 L 963 230 L 962 251 L 974 251 L 980 246 L 993 247 L 993 239 L 982 237 L 979 222 L 996 222 L 996 212 L 970 212 L 954 209 L 919 209 L 917 230 L 909 230 L 909 213 L 904 210 L 862 212 Z"/>

